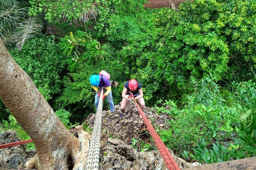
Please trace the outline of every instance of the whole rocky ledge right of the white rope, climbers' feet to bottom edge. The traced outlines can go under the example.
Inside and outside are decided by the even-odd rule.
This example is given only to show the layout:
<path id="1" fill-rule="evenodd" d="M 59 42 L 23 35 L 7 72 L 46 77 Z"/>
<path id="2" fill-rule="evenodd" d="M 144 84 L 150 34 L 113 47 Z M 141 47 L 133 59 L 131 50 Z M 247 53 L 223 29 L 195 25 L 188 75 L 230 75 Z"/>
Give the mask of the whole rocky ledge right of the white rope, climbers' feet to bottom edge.
<path id="1" fill-rule="evenodd" d="M 155 143 L 150 140 L 150 134 L 147 132 L 147 127 L 139 115 L 136 105 L 130 102 L 121 119 L 119 118 L 121 113 L 119 110 L 120 105 L 116 105 L 115 111 L 112 113 L 110 111 L 102 112 L 102 133 L 107 133 L 111 138 L 108 138 L 108 144 L 101 151 L 101 169 L 167 169 L 159 151 L 138 152 L 131 146 L 132 138 L 137 140 L 141 138 L 151 146 L 155 146 Z M 149 107 L 145 108 L 144 113 L 155 126 L 162 130 L 169 128 L 169 124 L 165 122 L 169 118 L 168 114 L 158 115 L 155 109 Z M 85 121 L 90 128 L 93 128 L 95 116 L 96 114 L 90 114 Z M 172 150 L 169 149 L 169 152 L 180 167 L 193 166 L 185 160 L 176 157 Z"/>

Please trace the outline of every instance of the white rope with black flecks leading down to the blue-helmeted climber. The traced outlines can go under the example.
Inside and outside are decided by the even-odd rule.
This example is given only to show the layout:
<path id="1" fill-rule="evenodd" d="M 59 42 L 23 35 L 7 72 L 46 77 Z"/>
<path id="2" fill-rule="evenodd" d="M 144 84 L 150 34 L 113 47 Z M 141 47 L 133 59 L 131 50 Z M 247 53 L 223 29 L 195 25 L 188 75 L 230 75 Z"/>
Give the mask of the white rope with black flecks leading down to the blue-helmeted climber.
<path id="1" fill-rule="evenodd" d="M 101 133 L 101 118 L 102 118 L 102 97 L 103 89 L 101 90 L 99 105 L 96 113 L 95 122 L 93 125 L 92 138 L 90 141 L 88 156 L 86 159 L 86 170 L 99 169 L 99 156 L 100 156 L 100 133 Z"/>

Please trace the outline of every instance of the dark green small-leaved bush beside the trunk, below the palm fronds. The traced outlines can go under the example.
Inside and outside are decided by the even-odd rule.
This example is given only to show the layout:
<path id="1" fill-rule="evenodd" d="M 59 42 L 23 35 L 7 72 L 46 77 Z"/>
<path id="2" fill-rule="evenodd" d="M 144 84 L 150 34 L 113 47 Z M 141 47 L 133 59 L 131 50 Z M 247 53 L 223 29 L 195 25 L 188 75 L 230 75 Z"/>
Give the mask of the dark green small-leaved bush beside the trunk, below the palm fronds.
<path id="1" fill-rule="evenodd" d="M 44 89 L 41 92 L 45 95 L 48 93 L 47 99 L 60 93 L 66 57 L 54 42 L 54 36 L 41 35 L 31 38 L 24 44 L 22 51 L 13 49 L 9 52 L 35 85 Z"/>

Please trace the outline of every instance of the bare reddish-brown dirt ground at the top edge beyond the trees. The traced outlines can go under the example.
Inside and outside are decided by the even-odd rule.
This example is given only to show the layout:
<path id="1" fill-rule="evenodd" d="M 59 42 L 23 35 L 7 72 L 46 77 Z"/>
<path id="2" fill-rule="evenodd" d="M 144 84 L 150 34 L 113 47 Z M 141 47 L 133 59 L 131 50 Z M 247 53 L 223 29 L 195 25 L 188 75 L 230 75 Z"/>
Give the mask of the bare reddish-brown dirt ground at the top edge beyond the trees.
<path id="1" fill-rule="evenodd" d="M 148 0 L 149 3 L 144 4 L 145 8 L 163 8 L 163 7 L 171 7 L 172 0 Z M 180 3 L 186 0 L 174 0 L 176 8 L 180 5 Z"/>

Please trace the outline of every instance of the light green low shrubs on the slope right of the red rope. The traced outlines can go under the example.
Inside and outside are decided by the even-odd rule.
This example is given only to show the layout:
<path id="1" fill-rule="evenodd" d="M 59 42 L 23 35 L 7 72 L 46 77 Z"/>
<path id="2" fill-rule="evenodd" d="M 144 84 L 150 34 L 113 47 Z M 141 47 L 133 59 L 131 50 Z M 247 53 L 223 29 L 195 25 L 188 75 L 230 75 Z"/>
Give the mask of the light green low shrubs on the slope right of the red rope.
<path id="1" fill-rule="evenodd" d="M 239 117 L 242 112 L 255 105 L 254 95 L 256 85 L 251 80 L 237 84 L 234 83 L 233 89 L 235 91 L 225 95 L 232 99 L 232 102 L 229 101 L 227 105 L 226 100 L 220 93 L 221 87 L 216 84 L 214 79 L 216 80 L 214 77 L 206 77 L 198 82 L 192 79 L 190 85 L 194 86 L 194 93 L 187 95 L 187 105 L 182 109 L 177 108 L 172 101 L 166 101 L 164 106 L 157 107 L 159 113 L 168 113 L 172 118 L 168 121 L 171 124 L 171 128 L 160 131 L 160 137 L 174 151 L 186 150 L 187 153 L 191 153 L 192 148 L 199 145 L 197 141 L 202 139 L 203 146 L 200 146 L 201 148 L 198 146 L 199 150 L 194 149 L 195 152 L 198 151 L 196 153 L 197 157 L 192 158 L 203 160 L 207 163 L 218 162 L 220 160 L 225 161 L 230 157 L 232 159 L 242 158 L 245 157 L 245 155 L 241 154 L 243 152 L 252 156 L 253 154 L 250 154 L 249 149 L 248 151 L 242 149 L 245 145 L 242 146 L 240 143 L 238 143 L 241 146 L 239 150 L 242 149 L 243 152 L 237 149 L 228 150 L 226 147 L 220 146 L 219 143 L 223 142 L 225 145 L 231 145 L 227 141 L 238 141 Z M 244 95 L 244 92 L 247 94 Z M 242 117 L 243 120 L 249 117 L 248 114 Z M 250 117 L 252 118 L 252 116 Z M 252 121 L 250 120 L 250 123 Z M 248 135 L 253 134 L 254 127 L 250 123 L 248 122 L 248 125 L 251 128 L 241 125 L 241 130 L 244 131 L 243 139 L 241 138 L 241 140 L 247 139 L 247 142 L 250 144 L 248 148 L 252 150 L 255 146 L 250 142 L 254 138 L 250 138 Z M 249 129 L 246 130 L 245 127 Z M 208 148 L 211 144 L 214 147 L 218 147 L 219 150 L 225 150 L 226 155 L 220 156 L 216 149 L 209 151 Z M 183 154 L 188 158 L 186 153 Z"/>

